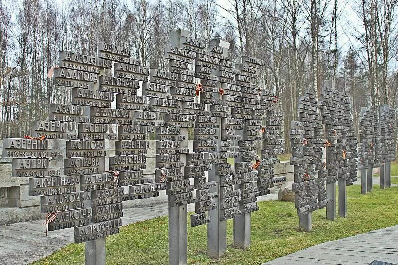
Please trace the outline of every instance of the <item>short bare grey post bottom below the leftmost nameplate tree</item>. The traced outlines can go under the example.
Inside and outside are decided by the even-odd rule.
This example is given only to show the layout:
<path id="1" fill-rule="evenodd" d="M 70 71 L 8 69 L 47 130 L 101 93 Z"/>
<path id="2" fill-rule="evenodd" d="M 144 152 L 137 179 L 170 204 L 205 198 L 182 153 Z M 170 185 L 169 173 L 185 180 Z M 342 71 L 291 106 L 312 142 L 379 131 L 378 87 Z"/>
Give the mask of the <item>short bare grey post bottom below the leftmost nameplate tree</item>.
<path id="1" fill-rule="evenodd" d="M 84 243 L 85 265 L 105 265 L 105 241 L 101 237 Z"/>

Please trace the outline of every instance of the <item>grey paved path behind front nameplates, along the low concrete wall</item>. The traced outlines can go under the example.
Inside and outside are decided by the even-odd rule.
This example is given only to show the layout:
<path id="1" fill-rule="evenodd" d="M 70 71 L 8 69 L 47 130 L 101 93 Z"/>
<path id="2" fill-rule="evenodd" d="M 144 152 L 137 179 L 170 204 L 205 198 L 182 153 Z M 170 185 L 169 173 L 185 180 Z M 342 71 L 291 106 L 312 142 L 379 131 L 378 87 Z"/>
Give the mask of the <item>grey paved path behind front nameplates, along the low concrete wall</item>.
<path id="1" fill-rule="evenodd" d="M 258 197 L 258 201 L 277 199 L 277 189 L 269 195 Z M 195 204 L 189 204 L 188 211 L 194 210 Z M 167 203 L 154 204 L 125 209 L 121 219 L 124 226 L 167 214 Z M 73 242 L 73 228 L 49 231 L 46 237 L 46 227 L 42 223 L 43 220 L 37 220 L 0 225 L 0 264 L 27 264 L 37 261 Z"/>

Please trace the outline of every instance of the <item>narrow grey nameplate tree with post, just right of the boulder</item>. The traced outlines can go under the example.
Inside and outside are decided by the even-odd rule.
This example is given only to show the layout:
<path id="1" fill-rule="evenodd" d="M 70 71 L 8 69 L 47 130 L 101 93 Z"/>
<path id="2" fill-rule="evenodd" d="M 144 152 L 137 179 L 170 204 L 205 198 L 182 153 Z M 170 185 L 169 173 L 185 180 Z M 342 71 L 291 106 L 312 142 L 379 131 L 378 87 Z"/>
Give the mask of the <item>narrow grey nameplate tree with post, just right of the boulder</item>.
<path id="1" fill-rule="evenodd" d="M 299 225 L 312 230 L 312 212 L 326 207 L 327 171 L 322 162 L 324 129 L 318 111 L 316 95 L 306 90 L 298 100 L 298 121 L 291 122 L 291 165 L 294 170 L 295 207 Z"/>

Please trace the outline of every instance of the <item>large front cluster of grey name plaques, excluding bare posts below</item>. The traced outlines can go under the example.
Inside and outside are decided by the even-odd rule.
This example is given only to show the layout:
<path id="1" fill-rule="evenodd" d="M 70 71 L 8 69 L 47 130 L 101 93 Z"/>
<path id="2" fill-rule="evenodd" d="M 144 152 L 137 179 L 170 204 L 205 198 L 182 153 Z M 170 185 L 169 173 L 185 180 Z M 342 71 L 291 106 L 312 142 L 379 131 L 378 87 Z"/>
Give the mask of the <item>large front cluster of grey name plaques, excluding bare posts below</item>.
<path id="1" fill-rule="evenodd" d="M 222 39 L 206 45 L 173 30 L 167 71 L 109 43 L 96 56 L 61 51 L 53 82 L 70 87 L 71 104 L 49 104 L 47 121 L 32 122 L 23 139 L 4 139 L 3 149 L 12 176 L 29 178 L 29 195 L 41 196 L 48 229 L 74 227 L 76 243 L 118 233 L 123 201 L 163 189 L 171 208 L 195 202 L 192 226 L 211 222 L 209 211 L 223 221 L 258 210 L 284 152 L 283 112 L 255 84 L 264 61 L 244 57 L 234 67 L 228 50 Z M 145 177 L 151 134 L 156 169 Z"/>

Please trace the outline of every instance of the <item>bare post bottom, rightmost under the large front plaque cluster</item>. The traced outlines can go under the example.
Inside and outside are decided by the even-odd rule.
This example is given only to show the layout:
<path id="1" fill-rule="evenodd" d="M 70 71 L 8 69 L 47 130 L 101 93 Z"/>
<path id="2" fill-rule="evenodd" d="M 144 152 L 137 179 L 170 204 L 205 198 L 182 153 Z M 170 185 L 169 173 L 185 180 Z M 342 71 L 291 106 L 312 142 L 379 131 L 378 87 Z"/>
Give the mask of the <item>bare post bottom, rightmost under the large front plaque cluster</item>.
<path id="1" fill-rule="evenodd" d="M 250 247 L 251 214 L 243 213 L 233 218 L 233 245 L 246 249 Z"/>

